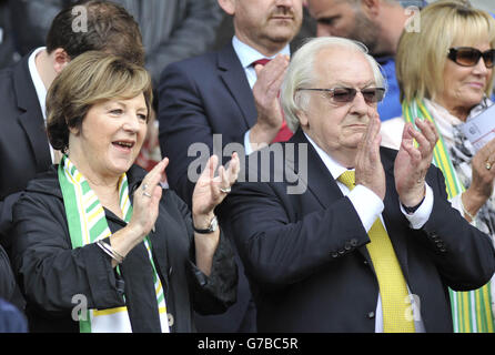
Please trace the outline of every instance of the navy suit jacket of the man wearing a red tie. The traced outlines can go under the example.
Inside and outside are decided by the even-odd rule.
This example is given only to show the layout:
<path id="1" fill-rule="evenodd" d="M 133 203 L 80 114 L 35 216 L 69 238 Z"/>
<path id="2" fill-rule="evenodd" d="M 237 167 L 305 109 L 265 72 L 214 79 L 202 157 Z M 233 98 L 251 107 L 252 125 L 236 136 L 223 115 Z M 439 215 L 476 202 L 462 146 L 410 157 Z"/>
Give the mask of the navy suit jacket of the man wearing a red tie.
<path id="1" fill-rule="evenodd" d="M 244 133 L 256 121 L 253 93 L 232 43 L 215 53 L 172 63 L 160 80 L 160 148 L 170 159 L 168 182 L 191 206 L 194 183 L 188 179 L 188 166 L 195 161 L 189 148 L 203 143 L 205 162 L 213 150 L 213 134 L 222 134 L 222 149 L 228 143 L 243 144 Z M 238 150 L 239 151 L 239 150 Z M 240 152 L 241 153 L 241 152 Z M 223 158 L 223 163 L 230 160 Z M 200 332 L 254 332 L 254 310 L 242 264 L 236 256 L 240 277 L 238 303 L 224 316 L 198 317 Z"/>

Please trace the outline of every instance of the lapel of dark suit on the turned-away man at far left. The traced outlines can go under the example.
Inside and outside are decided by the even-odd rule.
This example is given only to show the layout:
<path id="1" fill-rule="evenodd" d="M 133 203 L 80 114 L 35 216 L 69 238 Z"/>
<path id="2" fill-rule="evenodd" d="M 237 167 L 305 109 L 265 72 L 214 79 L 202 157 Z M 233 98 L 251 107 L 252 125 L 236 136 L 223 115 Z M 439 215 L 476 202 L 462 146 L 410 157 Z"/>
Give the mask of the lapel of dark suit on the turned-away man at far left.
<path id="1" fill-rule="evenodd" d="M 52 161 L 43 115 L 29 73 L 28 59 L 29 55 L 24 57 L 13 72 L 17 104 L 22 112 L 18 116 L 18 122 L 28 136 L 36 160 L 37 171 L 46 171 Z"/>

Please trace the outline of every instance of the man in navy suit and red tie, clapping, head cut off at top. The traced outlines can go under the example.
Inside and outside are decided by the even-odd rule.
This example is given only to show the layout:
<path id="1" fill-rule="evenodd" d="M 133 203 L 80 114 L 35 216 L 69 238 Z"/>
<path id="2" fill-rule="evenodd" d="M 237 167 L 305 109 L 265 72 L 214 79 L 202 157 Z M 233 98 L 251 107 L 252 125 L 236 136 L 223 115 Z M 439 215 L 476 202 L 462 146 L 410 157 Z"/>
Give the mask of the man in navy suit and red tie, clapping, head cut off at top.
<path id="1" fill-rule="evenodd" d="M 168 182 L 188 204 L 195 183 L 189 169 L 202 158 L 196 151 L 189 153 L 193 144 L 216 153 L 235 142 L 249 153 L 281 132 L 277 95 L 289 64 L 289 43 L 302 22 L 302 0 L 219 0 L 219 4 L 233 17 L 232 42 L 219 52 L 168 65 L 159 87 L 160 146 L 170 159 Z M 273 60 L 264 67 L 252 64 L 260 59 Z M 215 148 L 213 134 L 221 138 Z M 220 158 L 226 163 L 226 156 Z M 248 283 L 239 266 L 238 303 L 224 316 L 196 318 L 200 332 L 255 331 Z"/>

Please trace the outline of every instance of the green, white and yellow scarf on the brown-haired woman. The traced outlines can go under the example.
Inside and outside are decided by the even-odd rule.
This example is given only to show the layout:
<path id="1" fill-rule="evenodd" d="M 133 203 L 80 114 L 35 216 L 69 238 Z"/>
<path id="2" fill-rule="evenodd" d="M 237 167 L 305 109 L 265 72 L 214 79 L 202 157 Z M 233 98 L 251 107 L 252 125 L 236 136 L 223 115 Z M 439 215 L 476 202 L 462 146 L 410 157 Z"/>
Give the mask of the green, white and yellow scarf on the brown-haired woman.
<path id="1" fill-rule="evenodd" d="M 62 190 L 67 221 L 72 248 L 82 247 L 111 235 L 103 206 L 88 181 L 78 171 L 67 155 L 63 155 L 58 170 L 59 183 Z M 132 216 L 132 205 L 129 200 L 129 184 L 125 173 L 119 181 L 119 201 L 124 221 L 129 223 Z M 153 267 L 153 281 L 159 304 L 160 323 L 163 333 L 169 333 L 165 297 L 160 277 L 152 257 L 149 236 L 144 239 L 150 263 Z M 120 274 L 120 268 L 117 266 Z M 125 300 L 125 296 L 124 296 Z M 130 333 L 131 322 L 127 306 L 108 310 L 88 310 L 79 313 L 81 333 Z"/>

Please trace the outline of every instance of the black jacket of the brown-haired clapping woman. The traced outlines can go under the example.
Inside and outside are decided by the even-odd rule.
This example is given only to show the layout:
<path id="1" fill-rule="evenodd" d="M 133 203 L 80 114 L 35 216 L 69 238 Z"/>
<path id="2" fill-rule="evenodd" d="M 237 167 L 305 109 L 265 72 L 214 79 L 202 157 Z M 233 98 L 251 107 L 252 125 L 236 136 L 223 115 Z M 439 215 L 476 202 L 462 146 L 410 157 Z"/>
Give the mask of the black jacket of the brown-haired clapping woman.
<path id="1" fill-rule="evenodd" d="M 154 281 L 144 243 L 138 244 L 120 265 L 122 278 L 112 268 L 112 260 L 94 243 L 72 248 L 53 166 L 29 183 L 13 209 L 12 264 L 27 300 L 30 331 L 79 332 L 79 323 L 71 317 L 75 306 L 72 297 L 79 294 L 87 297 L 89 308 L 125 304 L 133 332 L 159 332 Z M 129 170 L 131 200 L 144 174 L 137 165 Z M 105 215 L 112 233 L 127 225 L 110 211 Z M 206 276 L 194 264 L 193 234 L 186 204 L 171 190 L 164 190 L 150 242 L 165 292 L 171 332 L 195 329 L 193 308 L 216 314 L 235 302 L 238 270 L 230 242 L 221 233 L 211 274 Z"/>

